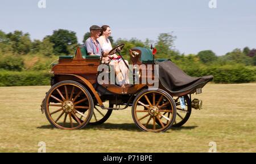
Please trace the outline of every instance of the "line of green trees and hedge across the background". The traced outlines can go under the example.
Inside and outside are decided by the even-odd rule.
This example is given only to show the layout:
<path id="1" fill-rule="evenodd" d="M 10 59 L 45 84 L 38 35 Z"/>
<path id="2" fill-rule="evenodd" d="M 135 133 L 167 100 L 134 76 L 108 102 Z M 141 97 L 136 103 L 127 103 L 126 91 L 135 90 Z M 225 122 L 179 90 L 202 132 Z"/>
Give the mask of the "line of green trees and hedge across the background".
<path id="1" fill-rule="evenodd" d="M 83 42 L 88 37 L 89 32 L 84 34 Z M 183 70 L 226 65 L 256 66 L 256 49 L 248 47 L 234 49 L 221 56 L 217 56 L 212 50 L 202 50 L 197 54 L 181 54 L 175 49 L 176 36 L 172 32 L 160 33 L 156 41 L 141 41 L 137 38 L 109 39 L 113 46 L 125 44 L 122 54 L 128 60 L 129 49 L 135 46 L 150 48 L 150 45 L 154 44 L 158 50 L 156 58 L 171 59 Z M 22 31 L 5 33 L 0 30 L 0 70 L 47 70 L 48 65 L 59 55 L 74 55 L 77 45 L 79 42 L 76 32 L 66 29 L 57 29 L 43 40 L 31 40 L 30 34 Z"/>

